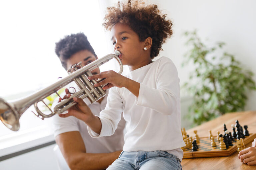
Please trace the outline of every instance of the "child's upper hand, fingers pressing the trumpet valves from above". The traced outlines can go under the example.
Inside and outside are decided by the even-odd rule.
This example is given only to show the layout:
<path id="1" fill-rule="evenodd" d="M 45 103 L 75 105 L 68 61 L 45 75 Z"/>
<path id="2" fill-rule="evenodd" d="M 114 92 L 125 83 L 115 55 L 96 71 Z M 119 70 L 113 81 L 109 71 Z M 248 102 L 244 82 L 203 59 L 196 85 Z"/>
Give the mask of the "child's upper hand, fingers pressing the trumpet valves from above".
<path id="1" fill-rule="evenodd" d="M 104 71 L 100 74 L 96 74 L 93 76 L 89 76 L 88 79 L 98 79 L 98 78 L 105 78 L 104 80 L 100 81 L 99 83 L 95 84 L 94 87 L 98 87 L 104 84 L 107 84 L 103 87 L 103 89 L 109 89 L 111 87 L 124 87 L 127 84 L 128 78 L 122 76 L 121 74 L 116 73 L 113 70 Z"/>

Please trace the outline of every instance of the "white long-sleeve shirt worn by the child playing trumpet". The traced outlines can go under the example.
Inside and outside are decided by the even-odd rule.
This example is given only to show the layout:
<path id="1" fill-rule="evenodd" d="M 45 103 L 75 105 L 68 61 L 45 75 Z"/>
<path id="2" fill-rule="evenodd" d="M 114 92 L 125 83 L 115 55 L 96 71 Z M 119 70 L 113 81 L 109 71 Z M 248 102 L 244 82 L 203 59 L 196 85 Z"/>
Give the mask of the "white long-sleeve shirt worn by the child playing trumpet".
<path id="1" fill-rule="evenodd" d="M 185 143 L 181 134 L 180 80 L 174 63 L 161 57 L 130 71 L 126 77 L 140 83 L 138 98 L 126 88 L 111 88 L 107 106 L 99 116 L 100 135 L 88 127 L 90 135 L 113 134 L 123 112 L 127 122 L 124 151 L 176 149 L 180 153 L 178 148 Z"/>

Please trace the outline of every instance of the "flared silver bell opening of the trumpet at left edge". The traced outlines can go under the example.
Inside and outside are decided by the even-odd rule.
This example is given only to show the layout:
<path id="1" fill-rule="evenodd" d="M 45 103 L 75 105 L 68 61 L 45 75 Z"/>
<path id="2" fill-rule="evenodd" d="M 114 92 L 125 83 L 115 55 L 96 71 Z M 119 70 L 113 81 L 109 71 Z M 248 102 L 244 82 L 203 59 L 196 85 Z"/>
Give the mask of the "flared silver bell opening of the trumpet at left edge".
<path id="1" fill-rule="evenodd" d="M 7 128 L 13 131 L 19 130 L 20 123 L 18 115 L 16 110 L 11 106 L 11 103 L 7 103 L 0 98 L 0 120 Z"/>

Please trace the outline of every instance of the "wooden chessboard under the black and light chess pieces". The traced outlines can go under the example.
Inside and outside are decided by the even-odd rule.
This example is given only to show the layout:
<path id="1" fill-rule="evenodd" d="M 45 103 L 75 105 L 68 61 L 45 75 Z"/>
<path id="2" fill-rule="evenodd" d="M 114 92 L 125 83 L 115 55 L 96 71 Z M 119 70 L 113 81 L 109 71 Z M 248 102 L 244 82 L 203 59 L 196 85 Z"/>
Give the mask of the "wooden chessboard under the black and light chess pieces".
<path id="1" fill-rule="evenodd" d="M 229 146 L 228 149 L 220 150 L 219 142 L 214 136 L 217 146 L 211 146 L 211 140 L 208 137 L 200 137 L 200 143 L 198 143 L 198 150 L 192 151 L 192 147 L 184 150 L 183 159 L 186 158 L 202 158 L 202 157 L 220 157 L 220 156 L 230 156 L 234 152 L 237 152 L 236 140 L 234 140 L 233 146 Z M 256 133 L 251 133 L 249 136 L 246 136 L 243 141 L 244 144 L 248 144 L 256 138 Z"/>

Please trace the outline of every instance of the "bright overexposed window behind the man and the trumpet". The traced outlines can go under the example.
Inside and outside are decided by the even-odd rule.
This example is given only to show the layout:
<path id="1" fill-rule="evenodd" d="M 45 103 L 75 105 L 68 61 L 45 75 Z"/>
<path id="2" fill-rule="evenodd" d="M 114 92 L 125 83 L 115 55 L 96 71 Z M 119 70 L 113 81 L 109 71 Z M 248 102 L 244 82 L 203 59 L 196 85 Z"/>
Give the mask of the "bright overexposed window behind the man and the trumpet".
<path id="1" fill-rule="evenodd" d="M 55 42 L 83 32 L 98 57 L 110 52 L 98 1 L 2 1 L 0 2 L 0 96 L 25 97 L 67 76 L 55 54 Z M 0 139 L 26 131 L 49 131 L 49 120 L 37 118 L 30 107 L 14 132 L 0 123 Z M 50 119 L 50 118 L 48 118 Z"/>

